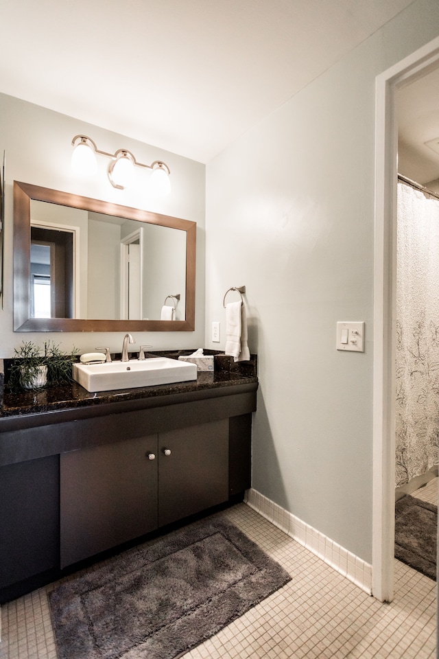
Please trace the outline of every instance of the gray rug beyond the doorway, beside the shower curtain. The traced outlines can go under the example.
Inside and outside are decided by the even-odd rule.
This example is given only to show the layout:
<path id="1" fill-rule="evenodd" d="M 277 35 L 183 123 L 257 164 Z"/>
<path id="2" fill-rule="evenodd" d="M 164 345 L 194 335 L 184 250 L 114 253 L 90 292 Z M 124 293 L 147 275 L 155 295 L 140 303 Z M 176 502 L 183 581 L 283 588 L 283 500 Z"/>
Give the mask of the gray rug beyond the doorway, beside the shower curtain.
<path id="1" fill-rule="evenodd" d="M 436 580 L 438 507 L 406 494 L 395 505 L 395 557 Z"/>

